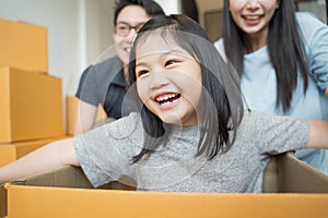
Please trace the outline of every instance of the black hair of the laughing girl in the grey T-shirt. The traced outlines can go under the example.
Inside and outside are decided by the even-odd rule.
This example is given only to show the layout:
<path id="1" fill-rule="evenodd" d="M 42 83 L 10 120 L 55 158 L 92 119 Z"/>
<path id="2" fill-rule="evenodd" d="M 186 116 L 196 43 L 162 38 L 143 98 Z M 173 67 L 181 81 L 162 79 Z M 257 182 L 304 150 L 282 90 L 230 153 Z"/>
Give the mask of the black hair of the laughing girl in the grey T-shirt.
<path id="1" fill-rule="evenodd" d="M 200 126 L 200 141 L 196 156 L 204 154 L 209 159 L 219 152 L 232 146 L 237 126 L 243 117 L 239 85 L 234 70 L 230 68 L 214 48 L 207 33 L 191 19 L 185 15 L 161 15 L 147 22 L 134 39 L 130 51 L 129 74 L 132 98 L 136 99 L 144 129 L 144 145 L 132 162 L 165 144 L 171 133 L 169 124 L 153 114 L 141 102 L 136 88 L 136 48 L 145 44 L 150 36 L 160 37 L 169 44 L 176 44 L 186 50 L 200 64 L 202 73 L 202 96 L 197 114 Z M 230 135 L 232 130 L 232 136 Z"/>

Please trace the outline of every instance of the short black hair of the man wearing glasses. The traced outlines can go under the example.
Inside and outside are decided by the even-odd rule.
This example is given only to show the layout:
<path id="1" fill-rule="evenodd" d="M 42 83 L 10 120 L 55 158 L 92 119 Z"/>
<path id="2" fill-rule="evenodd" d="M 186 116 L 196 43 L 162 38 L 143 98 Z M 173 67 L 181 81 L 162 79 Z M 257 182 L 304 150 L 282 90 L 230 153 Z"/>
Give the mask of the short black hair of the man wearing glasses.
<path id="1" fill-rule="evenodd" d="M 145 10 L 148 15 L 150 16 L 165 14 L 160 4 L 157 4 L 153 0 L 119 0 L 115 3 L 114 26 L 116 26 L 117 16 L 120 13 L 120 11 L 128 5 L 140 5 Z"/>

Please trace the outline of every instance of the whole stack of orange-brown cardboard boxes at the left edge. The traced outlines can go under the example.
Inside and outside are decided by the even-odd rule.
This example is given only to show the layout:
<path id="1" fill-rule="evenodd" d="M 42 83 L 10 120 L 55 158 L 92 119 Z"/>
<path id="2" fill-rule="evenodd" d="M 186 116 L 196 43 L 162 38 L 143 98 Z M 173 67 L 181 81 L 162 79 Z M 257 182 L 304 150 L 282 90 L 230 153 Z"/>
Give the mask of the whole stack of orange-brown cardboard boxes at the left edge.
<path id="1" fill-rule="evenodd" d="M 47 73 L 47 28 L 0 19 L 0 36 L 1 166 L 65 130 L 61 80 Z"/>

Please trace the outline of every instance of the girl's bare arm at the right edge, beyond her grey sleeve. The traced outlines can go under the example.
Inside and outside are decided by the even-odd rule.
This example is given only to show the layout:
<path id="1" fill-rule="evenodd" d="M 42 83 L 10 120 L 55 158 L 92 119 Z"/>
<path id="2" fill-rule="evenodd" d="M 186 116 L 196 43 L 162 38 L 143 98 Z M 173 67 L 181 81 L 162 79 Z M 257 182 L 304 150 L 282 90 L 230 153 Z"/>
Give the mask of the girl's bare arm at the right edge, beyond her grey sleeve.
<path id="1" fill-rule="evenodd" d="M 309 121 L 309 140 L 305 147 L 328 149 L 328 122 L 321 120 Z"/>

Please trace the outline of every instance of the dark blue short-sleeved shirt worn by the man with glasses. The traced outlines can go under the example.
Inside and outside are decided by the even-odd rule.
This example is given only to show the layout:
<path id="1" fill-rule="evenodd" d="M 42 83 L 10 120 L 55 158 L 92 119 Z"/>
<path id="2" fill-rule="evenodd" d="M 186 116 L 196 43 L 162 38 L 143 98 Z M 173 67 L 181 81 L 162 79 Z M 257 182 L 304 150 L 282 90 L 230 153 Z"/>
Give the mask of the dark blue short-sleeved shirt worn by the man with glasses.
<path id="1" fill-rule="evenodd" d="M 119 119 L 130 112 L 126 107 L 130 105 L 128 87 L 122 62 L 114 57 L 84 70 L 75 96 L 94 106 L 101 104 L 108 117 Z"/>

